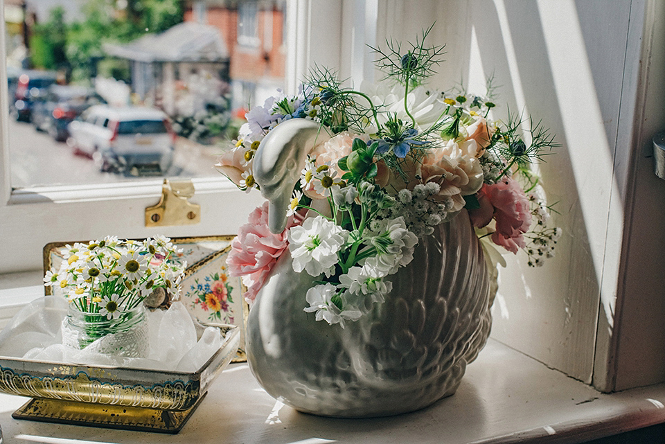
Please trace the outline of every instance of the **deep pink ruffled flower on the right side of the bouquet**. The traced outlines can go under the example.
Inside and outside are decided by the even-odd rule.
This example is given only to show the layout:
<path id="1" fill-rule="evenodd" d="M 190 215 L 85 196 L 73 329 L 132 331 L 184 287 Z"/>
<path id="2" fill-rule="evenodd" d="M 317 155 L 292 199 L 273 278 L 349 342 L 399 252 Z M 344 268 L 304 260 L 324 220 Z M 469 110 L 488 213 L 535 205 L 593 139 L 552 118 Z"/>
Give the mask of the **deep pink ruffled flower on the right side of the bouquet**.
<path id="1" fill-rule="evenodd" d="M 495 185 L 483 185 L 477 197 L 480 208 L 469 211 L 474 227 L 485 227 L 494 219 L 495 244 L 513 253 L 517 253 L 517 247 L 526 247 L 524 233 L 531 227 L 531 207 L 522 187 L 508 177 Z"/>

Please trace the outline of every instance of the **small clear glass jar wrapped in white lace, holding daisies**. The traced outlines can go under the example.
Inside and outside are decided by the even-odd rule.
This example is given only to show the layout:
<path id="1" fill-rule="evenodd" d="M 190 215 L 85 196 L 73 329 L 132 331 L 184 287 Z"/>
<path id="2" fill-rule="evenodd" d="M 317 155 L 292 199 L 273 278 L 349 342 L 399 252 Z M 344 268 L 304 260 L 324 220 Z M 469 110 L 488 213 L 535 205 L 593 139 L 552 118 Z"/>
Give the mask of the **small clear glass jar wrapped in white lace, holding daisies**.
<path id="1" fill-rule="evenodd" d="M 82 312 L 69 305 L 62 321 L 62 344 L 72 347 L 125 357 L 145 357 L 148 354 L 148 322 L 140 303 L 131 310 L 107 319 L 99 313 Z"/>

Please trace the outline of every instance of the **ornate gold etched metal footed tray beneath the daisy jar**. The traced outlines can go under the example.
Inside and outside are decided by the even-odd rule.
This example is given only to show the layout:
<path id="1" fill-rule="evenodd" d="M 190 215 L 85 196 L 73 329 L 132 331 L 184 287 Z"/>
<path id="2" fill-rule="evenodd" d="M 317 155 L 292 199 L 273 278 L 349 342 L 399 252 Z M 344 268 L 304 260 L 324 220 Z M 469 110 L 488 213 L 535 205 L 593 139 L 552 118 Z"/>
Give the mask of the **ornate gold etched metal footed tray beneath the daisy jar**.
<path id="1" fill-rule="evenodd" d="M 15 419 L 176 434 L 238 350 L 238 327 L 215 327 L 222 345 L 195 372 L 0 356 L 0 391 L 33 398 Z"/>

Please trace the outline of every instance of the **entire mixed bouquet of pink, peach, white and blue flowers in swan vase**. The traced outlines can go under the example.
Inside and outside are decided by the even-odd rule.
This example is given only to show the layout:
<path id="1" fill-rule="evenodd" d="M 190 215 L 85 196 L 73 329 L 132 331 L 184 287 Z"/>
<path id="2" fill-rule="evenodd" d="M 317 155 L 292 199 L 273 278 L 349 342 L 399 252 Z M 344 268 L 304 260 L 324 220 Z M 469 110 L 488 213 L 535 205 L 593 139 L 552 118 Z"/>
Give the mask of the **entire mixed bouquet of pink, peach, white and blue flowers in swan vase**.
<path id="1" fill-rule="evenodd" d="M 217 165 L 247 192 L 261 189 L 253 166 L 269 132 L 294 118 L 319 125 L 283 208 L 285 229 L 269 230 L 265 204 L 233 241 L 229 271 L 242 276 L 249 301 L 288 253 L 295 272 L 315 278 L 303 310 L 344 326 L 384 301 L 387 276 L 409 264 L 419 238 L 462 213 L 486 249 L 490 242 L 522 249 L 531 266 L 553 256 L 560 230 L 547 226 L 551 206 L 530 169 L 556 146 L 553 137 L 510 112 L 494 120 L 491 85 L 487 97 L 427 87 L 443 53 L 425 45 L 428 33 L 407 51 L 393 42 L 387 51 L 372 48 L 386 74 L 378 85 L 344 87 L 317 67 L 296 96 L 280 94 L 247 113 Z"/>

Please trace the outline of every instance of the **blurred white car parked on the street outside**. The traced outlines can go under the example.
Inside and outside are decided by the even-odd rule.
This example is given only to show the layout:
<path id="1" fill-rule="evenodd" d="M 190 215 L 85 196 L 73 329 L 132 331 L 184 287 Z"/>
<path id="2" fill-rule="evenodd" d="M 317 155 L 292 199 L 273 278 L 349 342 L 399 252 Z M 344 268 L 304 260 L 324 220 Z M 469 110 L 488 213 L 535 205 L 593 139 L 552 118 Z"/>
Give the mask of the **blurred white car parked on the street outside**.
<path id="1" fill-rule="evenodd" d="M 159 168 L 166 173 L 173 161 L 176 136 L 159 109 L 96 105 L 68 129 L 68 143 L 94 159 L 102 171 Z"/>

